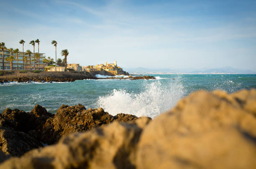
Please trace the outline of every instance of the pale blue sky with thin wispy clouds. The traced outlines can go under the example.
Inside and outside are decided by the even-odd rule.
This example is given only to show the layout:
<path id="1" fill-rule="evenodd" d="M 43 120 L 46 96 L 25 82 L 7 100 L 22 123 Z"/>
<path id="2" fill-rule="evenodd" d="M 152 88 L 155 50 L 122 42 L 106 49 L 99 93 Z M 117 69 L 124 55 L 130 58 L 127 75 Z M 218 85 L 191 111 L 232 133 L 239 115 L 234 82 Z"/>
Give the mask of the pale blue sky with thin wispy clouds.
<path id="1" fill-rule="evenodd" d="M 68 63 L 256 71 L 256 0 L 0 0 L 0 42 Z M 37 45 L 36 45 L 37 50 Z"/>

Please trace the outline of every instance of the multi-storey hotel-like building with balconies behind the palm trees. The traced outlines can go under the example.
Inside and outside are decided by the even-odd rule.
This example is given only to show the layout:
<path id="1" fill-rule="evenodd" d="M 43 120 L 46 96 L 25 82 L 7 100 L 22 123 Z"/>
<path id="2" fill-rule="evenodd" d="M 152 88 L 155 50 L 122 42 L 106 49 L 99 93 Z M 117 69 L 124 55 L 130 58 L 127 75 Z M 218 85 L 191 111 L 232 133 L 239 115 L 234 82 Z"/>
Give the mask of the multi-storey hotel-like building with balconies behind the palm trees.
<path id="1" fill-rule="evenodd" d="M 27 60 L 24 61 L 24 69 L 26 69 L 26 70 L 29 69 L 30 70 L 31 66 L 32 66 L 32 69 L 33 69 L 33 67 L 34 67 L 33 53 L 31 53 L 30 58 L 29 58 L 29 55 L 25 55 L 25 53 L 26 52 L 24 52 L 24 57 L 26 56 Z M 46 66 L 46 63 L 43 62 L 43 59 L 46 58 L 46 56 L 44 54 L 45 53 L 39 53 L 39 56 L 40 56 L 40 58 L 39 58 L 39 69 L 43 69 Z M 3 51 L 3 56 L 2 56 L 2 50 L 0 50 L 0 70 L 3 70 L 3 57 L 4 57 L 5 70 L 10 70 L 10 61 L 6 60 L 6 58 L 8 58 L 10 55 L 11 55 L 11 53 L 7 49 L 5 49 Z M 13 53 L 13 57 L 15 58 L 15 60 L 13 61 L 13 70 L 23 70 L 22 52 L 18 53 L 18 64 L 17 64 L 17 54 Z M 30 59 L 31 59 L 31 63 L 30 63 Z M 27 64 L 26 64 L 26 62 L 27 62 Z M 36 62 L 35 62 L 35 67 L 36 67 L 36 69 L 38 69 L 38 60 L 37 59 L 36 59 Z"/>

